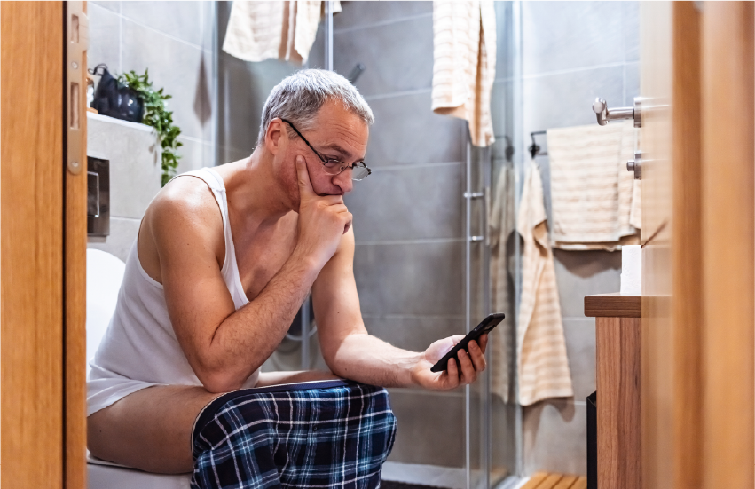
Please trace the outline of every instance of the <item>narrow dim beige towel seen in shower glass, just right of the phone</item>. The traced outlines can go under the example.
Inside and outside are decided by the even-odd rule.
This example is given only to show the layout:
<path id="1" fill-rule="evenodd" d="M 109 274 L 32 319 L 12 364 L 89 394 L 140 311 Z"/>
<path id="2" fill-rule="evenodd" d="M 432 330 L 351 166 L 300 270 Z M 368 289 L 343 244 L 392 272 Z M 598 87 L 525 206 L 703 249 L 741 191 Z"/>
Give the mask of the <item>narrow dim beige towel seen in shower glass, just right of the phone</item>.
<path id="1" fill-rule="evenodd" d="M 514 342 L 514 276 L 515 236 L 515 179 L 511 164 L 504 164 L 496 181 L 490 217 L 491 296 L 494 312 L 503 312 L 503 319 L 490 335 L 489 364 L 493 394 L 508 402 L 514 398 L 511 373 L 514 371 L 516 351 Z"/>

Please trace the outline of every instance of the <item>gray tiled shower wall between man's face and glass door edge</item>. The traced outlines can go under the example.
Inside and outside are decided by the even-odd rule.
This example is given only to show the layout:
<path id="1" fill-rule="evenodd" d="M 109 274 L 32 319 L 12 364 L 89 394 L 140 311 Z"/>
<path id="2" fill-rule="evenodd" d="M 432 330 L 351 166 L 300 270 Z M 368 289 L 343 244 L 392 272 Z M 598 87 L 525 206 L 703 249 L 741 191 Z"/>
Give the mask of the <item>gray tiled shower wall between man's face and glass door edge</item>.
<path id="1" fill-rule="evenodd" d="M 432 0 L 344 0 L 334 65 L 372 106 L 372 176 L 347 205 L 354 270 L 371 334 L 413 351 L 464 329 L 462 193 L 465 125 L 433 114 Z M 398 419 L 389 461 L 464 466 L 462 392 L 391 390 Z"/>

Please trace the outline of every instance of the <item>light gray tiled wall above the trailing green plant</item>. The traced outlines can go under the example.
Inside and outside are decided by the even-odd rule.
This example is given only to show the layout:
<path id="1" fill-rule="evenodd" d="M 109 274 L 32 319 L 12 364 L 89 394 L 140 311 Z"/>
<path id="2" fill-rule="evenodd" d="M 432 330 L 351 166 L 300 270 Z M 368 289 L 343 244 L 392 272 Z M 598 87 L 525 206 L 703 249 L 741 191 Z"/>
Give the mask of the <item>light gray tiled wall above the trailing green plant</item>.
<path id="1" fill-rule="evenodd" d="M 173 96 L 169 109 L 184 143 L 178 171 L 214 165 L 215 0 L 90 0 L 88 14 L 89 67 L 106 63 L 113 74 L 148 68 L 155 86 Z"/>

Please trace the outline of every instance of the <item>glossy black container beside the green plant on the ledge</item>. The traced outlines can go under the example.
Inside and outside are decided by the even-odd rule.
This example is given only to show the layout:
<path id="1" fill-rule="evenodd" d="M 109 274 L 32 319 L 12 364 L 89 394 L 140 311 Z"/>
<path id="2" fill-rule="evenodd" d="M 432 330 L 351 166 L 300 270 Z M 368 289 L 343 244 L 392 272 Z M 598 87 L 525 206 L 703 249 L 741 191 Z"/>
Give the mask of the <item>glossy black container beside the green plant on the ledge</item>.
<path id="1" fill-rule="evenodd" d="M 115 119 L 142 122 L 145 102 L 138 96 L 137 91 L 118 82 L 118 79 L 107 71 L 105 64 L 98 65 L 90 70 L 90 73 L 100 76 L 97 90 L 94 91 L 94 100 L 91 102 L 92 108 L 99 114 Z"/>

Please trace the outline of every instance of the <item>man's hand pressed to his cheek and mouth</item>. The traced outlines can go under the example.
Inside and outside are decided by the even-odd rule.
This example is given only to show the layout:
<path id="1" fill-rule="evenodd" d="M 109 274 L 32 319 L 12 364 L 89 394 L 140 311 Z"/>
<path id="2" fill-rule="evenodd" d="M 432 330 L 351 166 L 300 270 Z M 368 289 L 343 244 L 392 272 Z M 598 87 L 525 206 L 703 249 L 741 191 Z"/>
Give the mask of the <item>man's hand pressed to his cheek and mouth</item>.
<path id="1" fill-rule="evenodd" d="M 343 234 L 351 227 L 351 213 L 342 195 L 318 195 L 312 189 L 310 173 L 303 156 L 296 156 L 299 182 L 299 239 L 296 248 L 314 256 L 325 266 L 335 254 Z"/>

